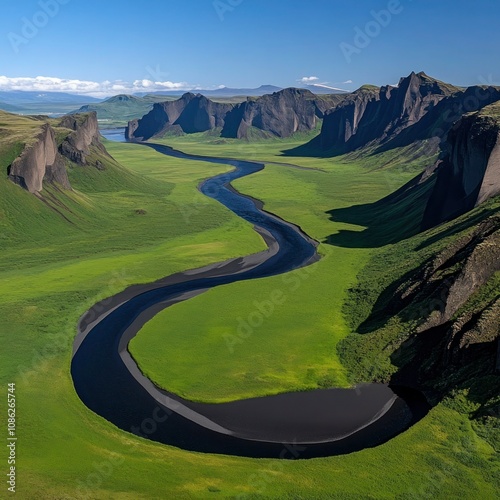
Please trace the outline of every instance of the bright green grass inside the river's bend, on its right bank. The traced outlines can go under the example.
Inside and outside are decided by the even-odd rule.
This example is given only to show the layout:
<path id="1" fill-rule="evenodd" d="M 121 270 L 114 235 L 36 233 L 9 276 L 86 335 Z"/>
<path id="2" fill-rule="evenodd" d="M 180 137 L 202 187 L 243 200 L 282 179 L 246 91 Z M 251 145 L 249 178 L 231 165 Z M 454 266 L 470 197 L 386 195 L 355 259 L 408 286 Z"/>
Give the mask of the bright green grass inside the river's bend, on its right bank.
<path id="1" fill-rule="evenodd" d="M 268 147 L 258 146 L 264 151 Z M 235 154 L 245 157 L 244 151 L 219 146 L 219 155 Z M 280 161 L 272 154 L 268 158 Z M 314 169 L 311 161 L 291 162 L 308 168 L 268 164 L 234 186 L 265 200 L 267 210 L 323 242 L 323 258 L 290 275 L 211 290 L 157 315 L 132 341 L 131 352 L 160 386 L 189 399 L 214 402 L 346 386 L 347 374 L 337 357 L 337 343 L 349 333 L 342 304 L 373 251 L 357 244 L 365 227 L 332 221 L 328 212 L 355 204 L 360 185 L 369 203 L 389 194 L 391 183 L 410 177 L 389 173 L 386 178 L 355 164 L 326 160 L 317 160 Z M 351 235 L 351 248 L 328 245 L 332 234 Z M 282 299 L 275 303 L 276 293 Z M 251 324 L 259 323 L 261 309 L 265 320 L 254 328 Z M 209 359 L 225 361 L 212 366 L 212 376 L 205 379 L 201 372 L 211 369 Z"/>

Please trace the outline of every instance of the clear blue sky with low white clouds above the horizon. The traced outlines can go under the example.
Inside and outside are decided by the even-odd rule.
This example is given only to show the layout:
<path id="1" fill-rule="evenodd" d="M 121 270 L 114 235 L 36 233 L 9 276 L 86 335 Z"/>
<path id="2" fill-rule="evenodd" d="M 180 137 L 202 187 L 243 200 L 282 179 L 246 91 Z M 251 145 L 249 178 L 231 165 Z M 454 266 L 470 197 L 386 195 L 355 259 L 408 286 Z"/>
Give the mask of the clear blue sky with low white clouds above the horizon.
<path id="1" fill-rule="evenodd" d="M 500 83 L 498 0 L 4 0 L 0 90 Z M 377 14 L 379 13 L 379 14 Z M 23 79 L 19 79 L 19 78 Z M 35 77 L 45 77 L 34 80 Z"/>

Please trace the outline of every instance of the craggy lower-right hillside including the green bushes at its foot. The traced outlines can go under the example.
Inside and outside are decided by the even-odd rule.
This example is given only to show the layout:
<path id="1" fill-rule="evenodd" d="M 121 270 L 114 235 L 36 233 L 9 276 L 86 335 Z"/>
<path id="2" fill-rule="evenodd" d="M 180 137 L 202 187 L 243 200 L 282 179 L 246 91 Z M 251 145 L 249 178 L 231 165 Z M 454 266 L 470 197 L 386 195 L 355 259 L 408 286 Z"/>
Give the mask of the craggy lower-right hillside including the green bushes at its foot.
<path id="1" fill-rule="evenodd" d="M 417 246 L 396 243 L 373 259 L 353 298 L 363 303 L 373 287 L 381 293 L 356 327 L 362 335 L 342 341 L 340 352 L 357 380 L 414 386 L 435 403 L 464 391 L 477 410 L 469 416 L 498 417 L 500 210 L 465 220 L 418 237 Z M 399 254 L 399 270 L 398 264 L 381 270 L 376 262 L 389 252 Z M 351 305 L 346 312 L 361 312 L 357 300 Z"/>

